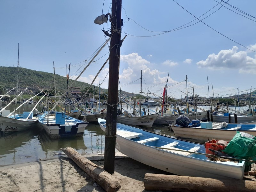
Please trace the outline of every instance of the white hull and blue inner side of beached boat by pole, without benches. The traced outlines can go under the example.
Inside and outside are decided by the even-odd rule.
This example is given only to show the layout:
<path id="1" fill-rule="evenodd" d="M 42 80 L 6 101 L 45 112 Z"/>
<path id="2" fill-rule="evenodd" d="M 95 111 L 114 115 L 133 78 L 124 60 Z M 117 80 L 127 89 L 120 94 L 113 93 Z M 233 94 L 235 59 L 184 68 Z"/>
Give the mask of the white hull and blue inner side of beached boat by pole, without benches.
<path id="1" fill-rule="evenodd" d="M 100 127 L 105 131 L 104 120 L 99 119 Z M 190 143 L 182 140 L 173 139 L 156 133 L 145 132 L 136 128 L 126 129 L 125 125 L 117 124 L 116 149 L 130 158 L 143 164 L 155 167 L 177 175 L 192 177 L 209 177 L 209 178 L 234 178 L 242 180 L 244 175 L 244 161 L 242 163 L 234 162 L 214 162 L 205 157 L 205 155 L 181 155 L 172 151 L 154 147 L 156 143 L 149 144 L 138 143 L 135 139 L 128 139 L 120 135 L 118 130 L 134 130 L 144 136 L 152 134 L 152 137 L 159 138 L 159 141 L 171 143 L 178 141 L 180 145 L 197 145 L 200 151 L 204 151 L 204 145 Z M 136 130 L 135 130 L 136 129 Z M 168 141 L 170 140 L 170 141 Z M 199 158 L 199 156 L 201 158 Z"/>

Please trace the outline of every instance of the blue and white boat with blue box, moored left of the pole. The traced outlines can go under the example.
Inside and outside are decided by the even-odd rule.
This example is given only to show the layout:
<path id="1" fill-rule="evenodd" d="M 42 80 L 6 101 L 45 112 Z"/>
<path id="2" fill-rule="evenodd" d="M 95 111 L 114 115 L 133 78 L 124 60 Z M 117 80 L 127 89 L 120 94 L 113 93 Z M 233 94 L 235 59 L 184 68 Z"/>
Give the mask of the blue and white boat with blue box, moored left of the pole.
<path id="1" fill-rule="evenodd" d="M 88 122 L 65 115 L 64 112 L 44 113 L 38 118 L 46 133 L 53 139 L 70 136 L 83 136 Z"/>

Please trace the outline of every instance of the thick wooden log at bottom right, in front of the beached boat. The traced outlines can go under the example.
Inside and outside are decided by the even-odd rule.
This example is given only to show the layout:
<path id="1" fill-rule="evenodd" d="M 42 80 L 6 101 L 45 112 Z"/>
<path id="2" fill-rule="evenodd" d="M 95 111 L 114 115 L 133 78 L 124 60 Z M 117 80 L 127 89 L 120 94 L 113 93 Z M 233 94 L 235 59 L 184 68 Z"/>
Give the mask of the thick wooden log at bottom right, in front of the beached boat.
<path id="1" fill-rule="evenodd" d="M 148 191 L 202 191 L 202 192 L 255 192 L 256 181 L 236 179 L 210 179 L 177 175 L 146 173 L 145 190 Z"/>

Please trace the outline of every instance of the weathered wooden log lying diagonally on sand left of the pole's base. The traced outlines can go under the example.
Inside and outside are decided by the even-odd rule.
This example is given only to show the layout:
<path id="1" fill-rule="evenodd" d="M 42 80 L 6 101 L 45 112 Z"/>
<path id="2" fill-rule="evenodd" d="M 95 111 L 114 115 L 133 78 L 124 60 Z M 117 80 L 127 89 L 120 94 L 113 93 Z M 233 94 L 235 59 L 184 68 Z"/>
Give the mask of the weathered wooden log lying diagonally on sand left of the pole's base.
<path id="1" fill-rule="evenodd" d="M 75 149 L 71 147 L 60 149 L 107 192 L 118 191 L 121 187 L 119 180 L 79 154 Z"/>

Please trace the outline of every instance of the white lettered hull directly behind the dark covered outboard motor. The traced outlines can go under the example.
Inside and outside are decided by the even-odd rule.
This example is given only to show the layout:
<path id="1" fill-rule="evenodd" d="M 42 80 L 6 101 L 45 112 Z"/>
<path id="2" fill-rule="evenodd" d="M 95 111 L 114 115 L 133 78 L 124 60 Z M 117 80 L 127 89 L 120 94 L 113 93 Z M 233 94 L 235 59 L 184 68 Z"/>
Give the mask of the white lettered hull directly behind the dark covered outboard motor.
<path id="1" fill-rule="evenodd" d="M 184 116 L 187 116 L 190 120 L 190 122 L 194 119 L 202 120 L 205 116 L 207 116 L 207 111 L 202 112 L 196 112 L 196 113 L 188 113 L 188 114 L 182 114 Z M 154 124 L 173 124 L 176 123 L 176 119 L 179 117 L 179 114 L 175 115 L 168 115 L 168 116 L 159 116 Z"/>

